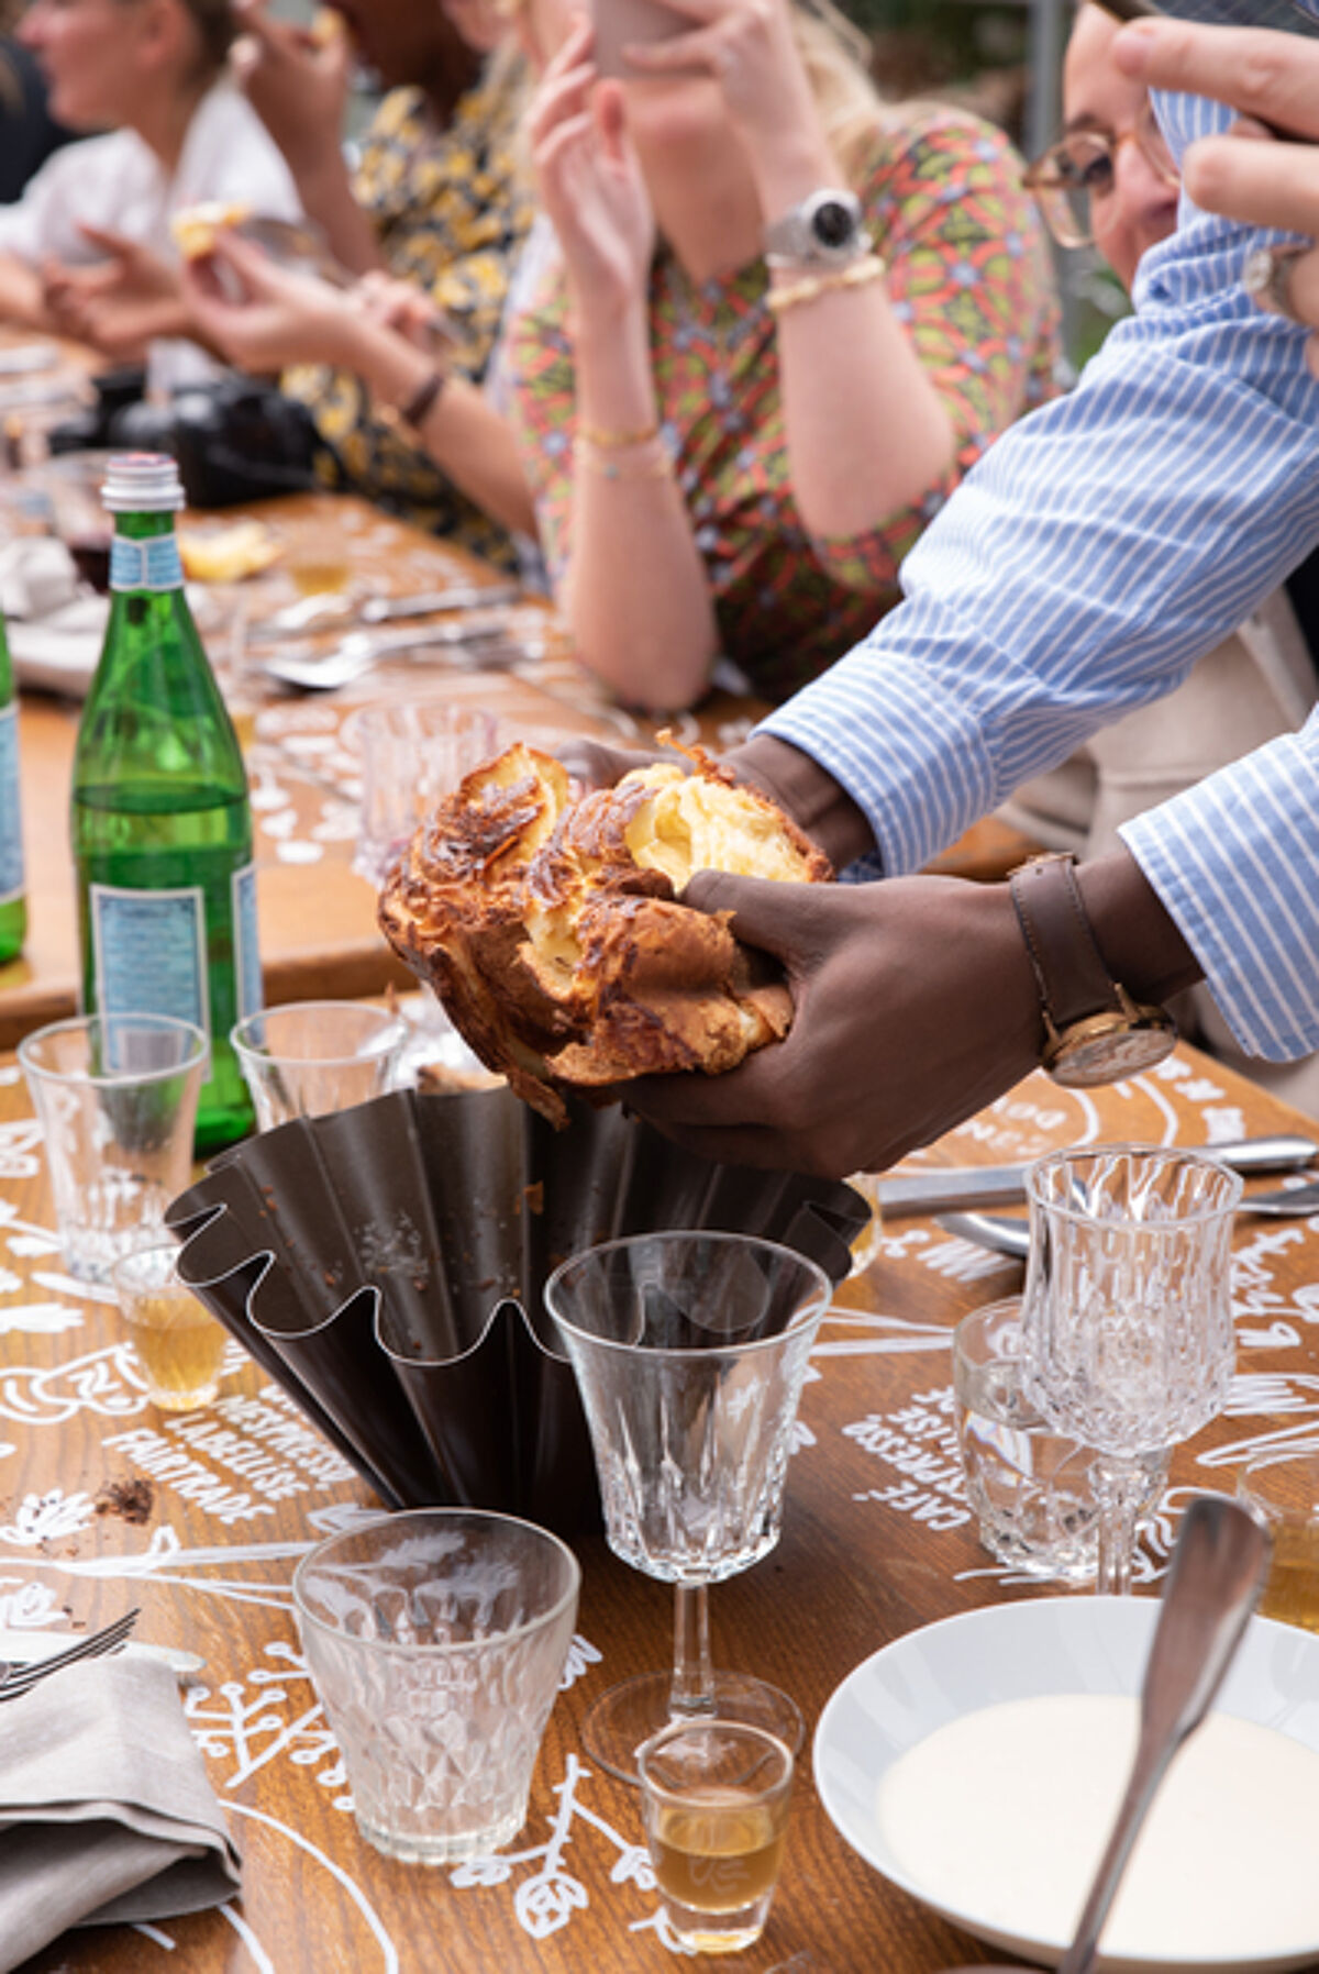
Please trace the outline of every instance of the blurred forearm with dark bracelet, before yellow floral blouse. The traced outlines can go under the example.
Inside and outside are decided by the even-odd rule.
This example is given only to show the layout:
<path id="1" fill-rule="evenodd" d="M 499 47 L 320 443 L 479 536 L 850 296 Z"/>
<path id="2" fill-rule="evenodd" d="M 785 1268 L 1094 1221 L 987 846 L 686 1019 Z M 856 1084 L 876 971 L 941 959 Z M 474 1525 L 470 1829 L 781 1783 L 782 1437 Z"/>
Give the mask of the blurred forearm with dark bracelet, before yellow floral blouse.
<path id="1" fill-rule="evenodd" d="M 430 357 L 393 330 L 363 324 L 357 373 L 373 397 L 403 407 L 432 375 Z M 417 440 L 442 466 L 468 499 L 513 533 L 535 533 L 531 490 L 521 470 L 517 442 L 484 391 L 466 377 L 446 377 L 421 420 Z"/>

